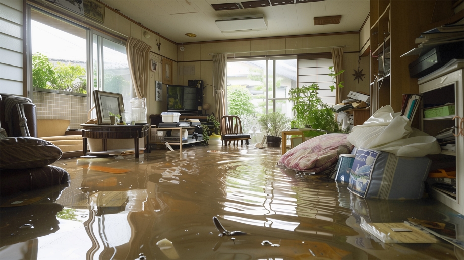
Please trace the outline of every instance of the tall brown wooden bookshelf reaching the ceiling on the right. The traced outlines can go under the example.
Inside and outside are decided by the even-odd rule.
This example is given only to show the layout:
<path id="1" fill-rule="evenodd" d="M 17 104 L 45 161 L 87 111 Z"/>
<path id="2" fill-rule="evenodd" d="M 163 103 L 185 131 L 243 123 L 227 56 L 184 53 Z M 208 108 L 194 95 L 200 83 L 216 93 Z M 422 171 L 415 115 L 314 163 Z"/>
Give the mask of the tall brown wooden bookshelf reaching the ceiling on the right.
<path id="1" fill-rule="evenodd" d="M 431 3 L 371 0 L 370 5 L 370 114 L 385 105 L 391 105 L 395 112 L 399 112 L 403 93 L 419 93 L 417 78 L 410 78 L 408 69 L 417 56 L 400 56 L 417 47 L 415 39 L 421 34 L 420 23 L 423 21 L 419 19 L 422 14 L 419 7 Z M 381 55 L 385 60 L 389 58 L 390 63 L 389 71 L 384 70 L 384 73 L 379 72 Z M 415 121 L 418 124 L 418 120 Z"/>

